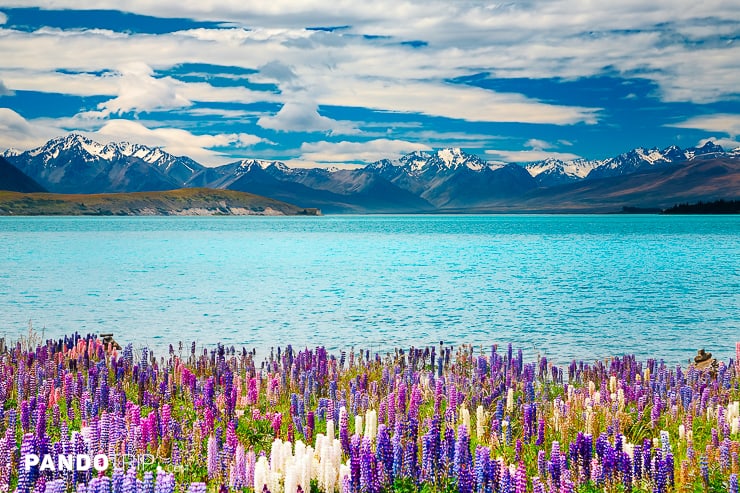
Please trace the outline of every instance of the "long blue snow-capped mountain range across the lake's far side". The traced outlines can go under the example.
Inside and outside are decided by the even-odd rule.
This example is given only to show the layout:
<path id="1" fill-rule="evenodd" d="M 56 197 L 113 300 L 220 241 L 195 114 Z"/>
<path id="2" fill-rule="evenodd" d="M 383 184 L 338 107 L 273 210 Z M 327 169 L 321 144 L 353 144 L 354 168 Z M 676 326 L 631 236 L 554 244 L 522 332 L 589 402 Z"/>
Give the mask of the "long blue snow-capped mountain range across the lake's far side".
<path id="1" fill-rule="evenodd" d="M 457 148 L 418 151 L 353 170 L 291 168 L 244 159 L 205 167 L 140 144 L 79 134 L 3 157 L 54 193 L 205 187 L 249 192 L 324 212 L 609 211 L 740 196 L 740 149 L 707 142 L 637 148 L 608 159 L 487 162 Z M 0 168 L 0 173 L 2 168 Z M 0 175 L 0 189 L 4 188 Z M 638 191 L 642 191 L 638 193 Z M 674 201 L 674 202 L 672 202 Z"/>

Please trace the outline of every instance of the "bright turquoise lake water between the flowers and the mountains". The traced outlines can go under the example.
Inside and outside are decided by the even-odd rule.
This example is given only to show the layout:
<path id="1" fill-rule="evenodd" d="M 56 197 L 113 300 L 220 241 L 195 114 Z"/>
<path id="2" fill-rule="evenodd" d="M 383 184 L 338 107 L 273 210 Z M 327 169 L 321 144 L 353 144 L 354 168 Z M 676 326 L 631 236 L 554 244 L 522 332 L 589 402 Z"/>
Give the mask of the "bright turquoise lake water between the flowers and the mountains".
<path id="1" fill-rule="evenodd" d="M 724 360 L 737 216 L 0 218 L 0 336 Z M 187 351 L 187 349 L 186 349 Z"/>

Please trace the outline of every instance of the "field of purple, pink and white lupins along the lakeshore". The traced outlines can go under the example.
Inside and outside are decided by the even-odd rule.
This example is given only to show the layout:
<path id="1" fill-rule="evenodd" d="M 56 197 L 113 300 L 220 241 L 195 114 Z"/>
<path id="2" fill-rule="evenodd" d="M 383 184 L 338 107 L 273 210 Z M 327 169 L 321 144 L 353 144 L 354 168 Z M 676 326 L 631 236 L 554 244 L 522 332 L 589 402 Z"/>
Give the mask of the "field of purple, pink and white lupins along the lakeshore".
<path id="1" fill-rule="evenodd" d="M 0 351 L 0 492 L 738 493 L 738 359 L 24 339 Z M 85 454 L 110 465 L 60 467 Z"/>

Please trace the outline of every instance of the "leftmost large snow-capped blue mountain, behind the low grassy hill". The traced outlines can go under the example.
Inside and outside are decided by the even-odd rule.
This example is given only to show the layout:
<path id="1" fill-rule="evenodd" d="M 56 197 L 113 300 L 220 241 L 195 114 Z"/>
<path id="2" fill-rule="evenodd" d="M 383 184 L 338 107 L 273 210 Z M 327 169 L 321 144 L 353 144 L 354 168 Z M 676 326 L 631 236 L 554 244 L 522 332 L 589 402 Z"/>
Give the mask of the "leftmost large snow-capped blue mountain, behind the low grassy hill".
<path id="1" fill-rule="evenodd" d="M 26 152 L 3 156 L 46 189 L 58 193 L 170 190 L 202 166 L 140 144 L 101 144 L 80 134 L 52 139 Z"/>

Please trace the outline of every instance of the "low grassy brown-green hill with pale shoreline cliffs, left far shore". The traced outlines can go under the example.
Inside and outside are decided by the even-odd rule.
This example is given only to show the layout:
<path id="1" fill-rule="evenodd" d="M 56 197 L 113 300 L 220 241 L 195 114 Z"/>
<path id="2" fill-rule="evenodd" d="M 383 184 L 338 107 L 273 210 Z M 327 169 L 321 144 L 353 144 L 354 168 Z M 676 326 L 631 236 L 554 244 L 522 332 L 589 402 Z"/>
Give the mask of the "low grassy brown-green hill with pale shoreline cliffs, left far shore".
<path id="1" fill-rule="evenodd" d="M 315 211 L 232 190 L 188 188 L 165 192 L 64 195 L 0 192 L 0 215 L 213 216 L 316 215 Z"/>

